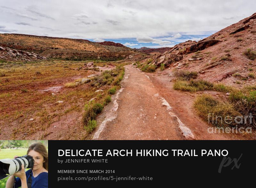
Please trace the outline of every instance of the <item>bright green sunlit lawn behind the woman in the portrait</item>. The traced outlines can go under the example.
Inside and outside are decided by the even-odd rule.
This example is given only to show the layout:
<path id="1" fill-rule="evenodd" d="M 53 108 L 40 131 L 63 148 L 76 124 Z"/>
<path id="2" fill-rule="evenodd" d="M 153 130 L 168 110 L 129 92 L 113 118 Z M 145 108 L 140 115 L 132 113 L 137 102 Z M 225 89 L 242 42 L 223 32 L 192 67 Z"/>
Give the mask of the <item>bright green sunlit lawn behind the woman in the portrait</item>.
<path id="1" fill-rule="evenodd" d="M 15 155 L 22 156 L 27 154 L 28 148 L 25 149 L 1 149 L 0 159 L 13 159 Z M 0 188 L 5 188 L 8 178 L 0 180 Z"/>

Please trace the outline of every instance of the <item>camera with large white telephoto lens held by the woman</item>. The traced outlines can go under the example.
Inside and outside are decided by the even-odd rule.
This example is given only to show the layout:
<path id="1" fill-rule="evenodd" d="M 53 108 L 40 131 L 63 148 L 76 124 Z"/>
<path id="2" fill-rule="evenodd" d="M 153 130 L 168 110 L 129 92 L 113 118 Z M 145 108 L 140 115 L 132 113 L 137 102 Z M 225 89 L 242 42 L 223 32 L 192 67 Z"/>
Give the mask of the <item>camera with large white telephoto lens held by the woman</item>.
<path id="1" fill-rule="evenodd" d="M 24 155 L 22 157 L 17 157 L 16 159 L 1 159 L 0 180 L 13 175 L 15 172 L 19 172 L 21 170 L 21 165 L 24 165 L 24 168 L 32 168 L 34 166 L 33 157 Z"/>

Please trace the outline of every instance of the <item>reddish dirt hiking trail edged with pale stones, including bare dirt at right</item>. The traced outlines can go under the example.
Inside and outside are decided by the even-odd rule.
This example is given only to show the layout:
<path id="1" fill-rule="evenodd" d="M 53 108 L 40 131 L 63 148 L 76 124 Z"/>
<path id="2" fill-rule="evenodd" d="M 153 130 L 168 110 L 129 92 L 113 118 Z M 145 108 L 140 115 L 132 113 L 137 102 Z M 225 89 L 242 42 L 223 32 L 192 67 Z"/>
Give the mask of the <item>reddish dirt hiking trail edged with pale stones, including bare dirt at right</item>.
<path id="1" fill-rule="evenodd" d="M 125 66 L 122 88 L 112 98 L 113 103 L 110 106 L 113 107 L 108 107 L 100 115 L 101 123 L 93 139 L 234 139 L 227 134 L 208 133 L 209 125 L 195 116 L 195 112 L 191 109 L 192 102 L 186 104 L 185 100 L 185 104 L 182 104 L 182 93 L 177 94 L 179 91 L 174 91 L 171 87 L 168 87 L 168 92 L 166 92 L 166 84 L 161 83 L 156 77 L 156 74 L 141 72 L 132 65 Z M 179 104 L 175 105 L 176 102 Z M 177 110 L 179 106 L 182 114 Z M 186 114 L 192 115 L 190 122 Z M 199 129 L 203 130 L 199 131 Z"/>

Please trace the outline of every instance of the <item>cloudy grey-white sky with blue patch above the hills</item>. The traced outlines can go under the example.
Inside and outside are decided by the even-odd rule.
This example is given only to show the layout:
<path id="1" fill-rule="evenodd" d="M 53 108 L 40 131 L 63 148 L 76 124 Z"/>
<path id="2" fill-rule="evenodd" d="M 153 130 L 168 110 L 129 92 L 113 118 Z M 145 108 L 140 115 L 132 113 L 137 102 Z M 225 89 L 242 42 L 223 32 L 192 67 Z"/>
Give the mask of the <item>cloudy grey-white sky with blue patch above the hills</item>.
<path id="1" fill-rule="evenodd" d="M 169 47 L 212 35 L 255 7 L 255 0 L 0 0 L 0 33 Z"/>

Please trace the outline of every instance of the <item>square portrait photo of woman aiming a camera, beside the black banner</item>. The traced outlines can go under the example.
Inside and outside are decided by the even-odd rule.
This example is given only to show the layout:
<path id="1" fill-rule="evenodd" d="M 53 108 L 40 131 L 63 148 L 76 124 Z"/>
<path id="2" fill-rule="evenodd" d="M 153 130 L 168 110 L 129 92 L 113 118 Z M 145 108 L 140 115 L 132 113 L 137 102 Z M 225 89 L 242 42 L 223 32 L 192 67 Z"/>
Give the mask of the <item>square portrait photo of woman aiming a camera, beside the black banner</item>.
<path id="1" fill-rule="evenodd" d="M 48 188 L 47 140 L 0 140 L 0 188 Z"/>

